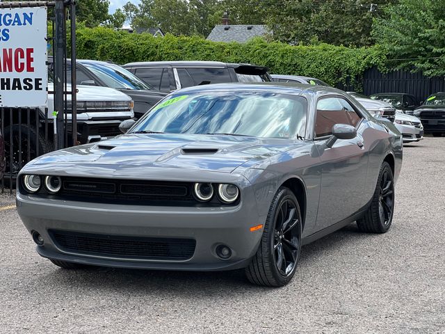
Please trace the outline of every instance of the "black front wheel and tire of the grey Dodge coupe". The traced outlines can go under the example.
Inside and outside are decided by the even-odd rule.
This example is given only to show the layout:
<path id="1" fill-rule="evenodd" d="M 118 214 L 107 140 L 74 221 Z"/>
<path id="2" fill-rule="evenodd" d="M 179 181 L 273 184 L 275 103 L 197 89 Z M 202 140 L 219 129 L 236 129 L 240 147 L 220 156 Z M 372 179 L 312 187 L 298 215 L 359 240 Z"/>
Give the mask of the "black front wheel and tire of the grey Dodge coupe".
<path id="1" fill-rule="evenodd" d="M 280 187 L 270 205 L 257 253 L 245 269 L 251 283 L 282 287 L 290 282 L 300 260 L 301 222 L 296 196 L 289 188 Z"/>

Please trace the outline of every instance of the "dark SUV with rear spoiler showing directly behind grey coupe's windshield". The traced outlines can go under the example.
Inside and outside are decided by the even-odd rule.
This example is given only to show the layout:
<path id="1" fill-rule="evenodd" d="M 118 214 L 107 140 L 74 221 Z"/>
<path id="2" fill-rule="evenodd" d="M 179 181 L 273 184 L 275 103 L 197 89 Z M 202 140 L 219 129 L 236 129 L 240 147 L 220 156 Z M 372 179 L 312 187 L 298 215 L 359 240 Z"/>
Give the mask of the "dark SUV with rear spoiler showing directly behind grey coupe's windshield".
<path id="1" fill-rule="evenodd" d="M 217 61 L 146 61 L 124 67 L 162 92 L 179 88 L 228 82 L 272 81 L 268 68 Z"/>

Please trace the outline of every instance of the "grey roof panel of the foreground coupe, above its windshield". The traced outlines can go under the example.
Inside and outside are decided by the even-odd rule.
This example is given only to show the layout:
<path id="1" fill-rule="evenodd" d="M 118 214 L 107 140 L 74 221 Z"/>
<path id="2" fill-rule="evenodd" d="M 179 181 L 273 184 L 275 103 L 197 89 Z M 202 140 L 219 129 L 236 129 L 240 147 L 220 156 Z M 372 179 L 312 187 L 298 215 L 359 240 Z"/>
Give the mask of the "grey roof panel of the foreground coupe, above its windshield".
<path id="1" fill-rule="evenodd" d="M 209 84 L 202 86 L 193 86 L 177 90 L 177 93 L 198 93 L 206 91 L 224 91 L 224 90 L 248 90 L 248 91 L 267 91 L 268 93 L 287 93 L 293 95 L 312 94 L 318 95 L 325 93 L 325 95 L 335 94 L 346 96 L 343 90 L 331 88 L 326 86 L 314 86 L 308 84 L 287 83 L 287 82 L 251 82 L 251 83 L 228 83 L 228 84 Z M 176 92 L 175 92 L 176 93 Z M 173 93 L 173 94 L 175 94 Z"/>

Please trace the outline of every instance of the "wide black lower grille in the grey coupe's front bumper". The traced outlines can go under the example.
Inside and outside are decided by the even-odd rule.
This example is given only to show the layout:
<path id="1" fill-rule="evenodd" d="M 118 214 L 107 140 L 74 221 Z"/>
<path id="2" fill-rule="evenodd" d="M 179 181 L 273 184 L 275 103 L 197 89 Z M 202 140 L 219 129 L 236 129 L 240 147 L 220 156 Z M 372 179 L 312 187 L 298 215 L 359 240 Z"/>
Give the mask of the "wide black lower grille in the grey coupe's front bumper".
<path id="1" fill-rule="evenodd" d="M 188 260 L 195 253 L 194 239 L 125 237 L 50 230 L 60 250 L 82 255 L 140 260 Z"/>

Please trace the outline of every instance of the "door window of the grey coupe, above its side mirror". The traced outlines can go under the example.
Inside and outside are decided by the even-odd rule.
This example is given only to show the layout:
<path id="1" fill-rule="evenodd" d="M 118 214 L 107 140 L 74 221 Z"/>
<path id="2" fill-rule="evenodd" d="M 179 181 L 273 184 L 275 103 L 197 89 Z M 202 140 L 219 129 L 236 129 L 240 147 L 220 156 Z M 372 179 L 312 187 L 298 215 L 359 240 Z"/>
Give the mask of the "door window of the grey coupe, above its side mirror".
<path id="1" fill-rule="evenodd" d="M 327 97 L 318 100 L 315 122 L 315 136 L 329 136 L 336 124 L 357 126 L 362 118 L 353 106 L 339 97 Z"/>

